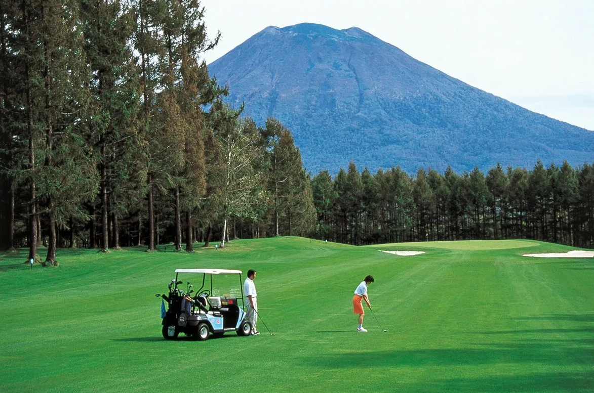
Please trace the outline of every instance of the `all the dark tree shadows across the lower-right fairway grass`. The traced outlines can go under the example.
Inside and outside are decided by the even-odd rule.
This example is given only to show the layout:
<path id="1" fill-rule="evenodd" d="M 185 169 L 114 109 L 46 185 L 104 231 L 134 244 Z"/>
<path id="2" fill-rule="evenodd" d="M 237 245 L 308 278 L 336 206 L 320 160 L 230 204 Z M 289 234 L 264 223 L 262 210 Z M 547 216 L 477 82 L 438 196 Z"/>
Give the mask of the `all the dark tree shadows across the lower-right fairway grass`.
<path id="1" fill-rule="evenodd" d="M 320 369 L 369 369 L 386 373 L 435 369 L 435 379 L 394 385 L 403 392 L 590 392 L 594 387 L 594 313 L 551 314 L 516 318 L 526 321 L 559 321 L 561 328 L 464 332 L 478 336 L 463 348 L 413 348 L 393 351 L 337 351 L 311 359 Z M 575 328 L 567 323 L 579 324 Z M 503 335 L 493 340 L 495 335 Z M 505 335 L 510 335 L 505 340 Z M 503 340 L 503 342 L 501 342 Z M 343 348 L 345 349 L 345 348 Z M 507 374 L 495 367 L 507 365 Z M 471 372 L 462 370 L 472 369 Z M 559 370 L 538 372 L 535 369 Z M 513 370 L 517 370 L 514 373 Z M 572 372 L 576 370 L 577 372 Z M 586 370 L 586 371 L 583 371 Z"/>

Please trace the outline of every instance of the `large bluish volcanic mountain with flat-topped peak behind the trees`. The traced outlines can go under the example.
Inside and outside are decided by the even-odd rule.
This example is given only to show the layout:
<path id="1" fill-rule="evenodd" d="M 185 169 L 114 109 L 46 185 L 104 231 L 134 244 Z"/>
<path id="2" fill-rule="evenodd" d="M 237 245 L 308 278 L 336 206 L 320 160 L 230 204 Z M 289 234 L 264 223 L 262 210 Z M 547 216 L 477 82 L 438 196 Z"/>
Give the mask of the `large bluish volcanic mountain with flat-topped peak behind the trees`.
<path id="1" fill-rule="evenodd" d="M 594 159 L 594 132 L 472 87 L 356 27 L 267 27 L 208 69 L 258 125 L 283 122 L 314 175 L 349 161 L 414 173 Z"/>

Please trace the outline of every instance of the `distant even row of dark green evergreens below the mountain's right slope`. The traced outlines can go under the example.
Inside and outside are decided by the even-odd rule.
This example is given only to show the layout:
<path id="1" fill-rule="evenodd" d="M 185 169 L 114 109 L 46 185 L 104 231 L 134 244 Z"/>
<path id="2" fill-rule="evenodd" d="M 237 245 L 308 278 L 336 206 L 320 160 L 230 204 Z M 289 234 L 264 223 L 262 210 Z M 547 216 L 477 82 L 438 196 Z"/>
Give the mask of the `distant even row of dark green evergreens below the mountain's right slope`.
<path id="1" fill-rule="evenodd" d="M 359 173 L 354 163 L 312 179 L 320 239 L 364 245 L 463 239 L 536 239 L 594 248 L 594 165 L 532 170 L 500 164 L 443 174 L 400 167 Z"/>

